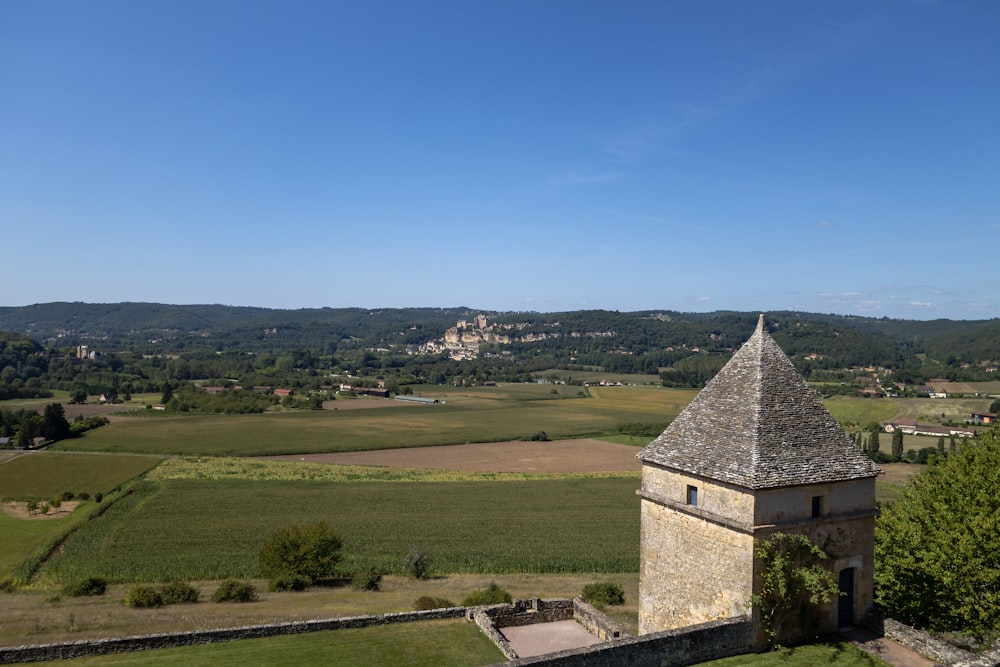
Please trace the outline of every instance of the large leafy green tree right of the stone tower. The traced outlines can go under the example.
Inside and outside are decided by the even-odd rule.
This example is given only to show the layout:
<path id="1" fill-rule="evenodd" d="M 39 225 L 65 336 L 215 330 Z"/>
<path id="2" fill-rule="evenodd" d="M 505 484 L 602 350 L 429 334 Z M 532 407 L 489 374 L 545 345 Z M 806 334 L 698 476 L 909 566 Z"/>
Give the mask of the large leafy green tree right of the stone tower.
<path id="1" fill-rule="evenodd" d="M 928 468 L 875 530 L 877 602 L 904 623 L 1000 633 L 1000 426 Z"/>

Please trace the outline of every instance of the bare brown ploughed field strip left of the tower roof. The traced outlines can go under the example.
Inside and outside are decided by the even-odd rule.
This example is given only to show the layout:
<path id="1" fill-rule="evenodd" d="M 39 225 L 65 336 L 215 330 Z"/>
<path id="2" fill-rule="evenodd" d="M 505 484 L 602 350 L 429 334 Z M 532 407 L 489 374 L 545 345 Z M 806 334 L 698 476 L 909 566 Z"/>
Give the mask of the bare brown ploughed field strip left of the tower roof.
<path id="1" fill-rule="evenodd" d="M 602 440 L 554 440 L 550 442 L 488 442 L 472 445 L 441 445 L 379 449 L 335 454 L 271 456 L 272 460 L 309 461 L 341 465 L 433 468 L 475 472 L 639 472 L 635 457 L 639 447 Z"/>

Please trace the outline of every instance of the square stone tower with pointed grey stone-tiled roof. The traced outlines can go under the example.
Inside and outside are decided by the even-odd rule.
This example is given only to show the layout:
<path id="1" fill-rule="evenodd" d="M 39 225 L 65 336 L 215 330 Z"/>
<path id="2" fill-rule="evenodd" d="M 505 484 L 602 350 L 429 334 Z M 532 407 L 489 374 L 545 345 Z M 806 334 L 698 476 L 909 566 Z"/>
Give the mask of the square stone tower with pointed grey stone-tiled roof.
<path id="1" fill-rule="evenodd" d="M 757 329 L 642 460 L 639 632 L 749 613 L 754 540 L 802 533 L 831 555 L 837 602 L 820 630 L 872 601 L 875 477 L 764 329 Z M 758 633 L 758 637 L 760 637 Z"/>

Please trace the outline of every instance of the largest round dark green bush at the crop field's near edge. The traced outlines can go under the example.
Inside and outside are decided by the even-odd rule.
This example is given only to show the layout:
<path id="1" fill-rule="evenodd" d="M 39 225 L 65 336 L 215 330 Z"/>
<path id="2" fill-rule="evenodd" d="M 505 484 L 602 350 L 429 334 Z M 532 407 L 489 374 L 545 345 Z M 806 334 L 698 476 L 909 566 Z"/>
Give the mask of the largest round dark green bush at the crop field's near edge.
<path id="1" fill-rule="evenodd" d="M 260 550 L 260 569 L 265 577 L 298 575 L 310 583 L 328 581 L 340 563 L 340 535 L 326 521 L 303 523 L 272 535 Z"/>

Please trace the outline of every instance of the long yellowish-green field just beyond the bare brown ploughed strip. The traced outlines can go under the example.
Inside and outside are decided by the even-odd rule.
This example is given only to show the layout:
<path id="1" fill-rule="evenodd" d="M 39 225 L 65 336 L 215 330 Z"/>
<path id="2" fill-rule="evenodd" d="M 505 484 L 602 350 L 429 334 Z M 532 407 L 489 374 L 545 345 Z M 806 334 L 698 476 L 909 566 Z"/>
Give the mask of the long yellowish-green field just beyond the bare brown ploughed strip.
<path id="1" fill-rule="evenodd" d="M 500 388 L 504 389 L 504 388 Z M 534 388 L 533 388 L 534 390 Z M 499 392 L 499 390 L 498 390 Z M 500 442 L 545 431 L 552 439 L 613 433 L 628 422 L 667 422 L 694 390 L 591 388 L 572 400 L 448 394 L 447 403 L 379 410 L 131 418 L 58 444 L 65 450 L 266 456 Z M 498 396 L 502 394 L 498 393 Z"/>

